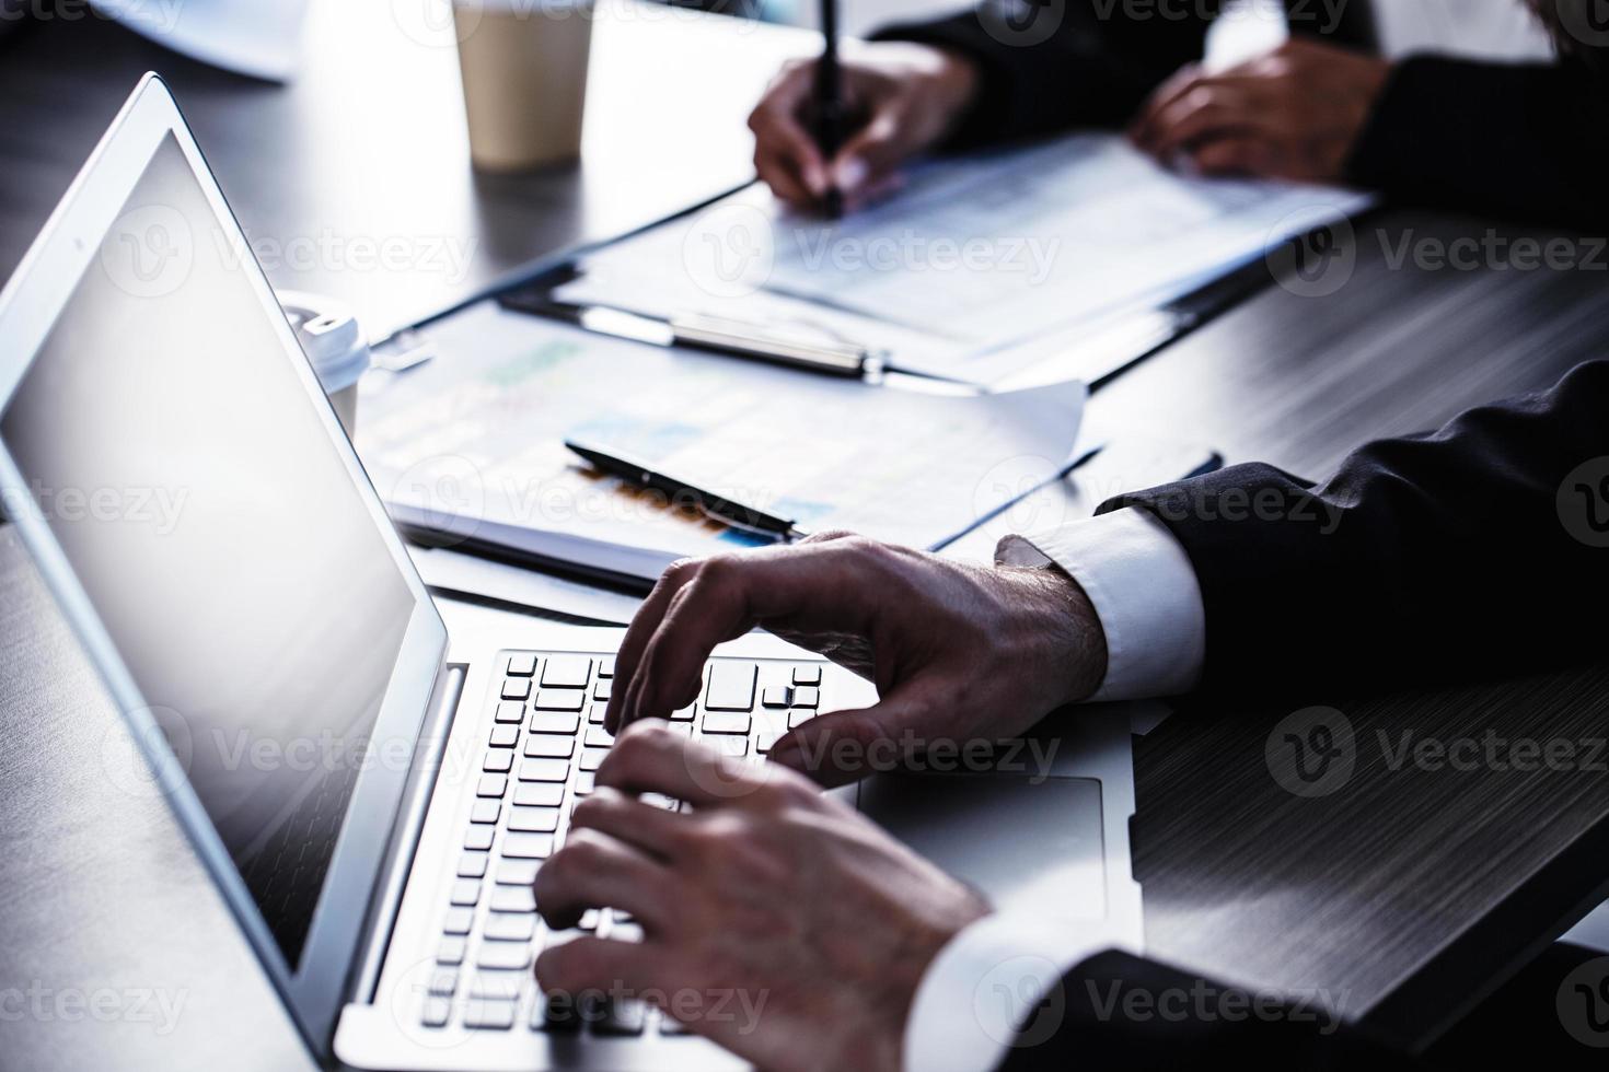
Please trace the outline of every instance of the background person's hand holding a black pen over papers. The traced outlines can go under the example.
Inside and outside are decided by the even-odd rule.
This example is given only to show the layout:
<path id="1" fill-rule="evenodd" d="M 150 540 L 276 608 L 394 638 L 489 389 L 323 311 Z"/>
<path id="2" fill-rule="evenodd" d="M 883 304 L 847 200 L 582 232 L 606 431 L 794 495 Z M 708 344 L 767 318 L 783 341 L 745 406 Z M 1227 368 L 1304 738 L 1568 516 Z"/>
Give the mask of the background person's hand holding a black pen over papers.
<path id="1" fill-rule="evenodd" d="M 816 61 L 793 61 L 748 117 L 755 169 L 772 193 L 796 207 L 821 204 L 838 188 L 846 207 L 885 188 L 901 161 L 936 145 L 977 93 L 977 69 L 943 48 L 879 42 L 851 47 L 842 59 L 843 106 L 858 129 L 825 161 L 816 146 Z"/>

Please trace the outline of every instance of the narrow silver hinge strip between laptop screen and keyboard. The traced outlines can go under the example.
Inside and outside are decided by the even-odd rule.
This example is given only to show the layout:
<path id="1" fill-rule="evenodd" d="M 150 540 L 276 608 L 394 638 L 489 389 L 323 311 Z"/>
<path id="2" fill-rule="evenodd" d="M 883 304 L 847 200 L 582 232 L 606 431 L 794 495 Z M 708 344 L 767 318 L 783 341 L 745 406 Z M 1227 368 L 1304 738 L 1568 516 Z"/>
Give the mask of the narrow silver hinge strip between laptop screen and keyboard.
<path id="1" fill-rule="evenodd" d="M 441 773 L 442 755 L 447 751 L 447 734 L 452 731 L 452 718 L 459 710 L 459 699 L 463 696 L 467 672 L 468 667 L 465 665 L 449 664 L 436 678 L 436 691 L 431 696 L 430 712 L 420 726 L 420 751 L 415 755 L 414 771 L 402 791 L 391 847 L 386 852 L 380 882 L 375 886 L 364 947 L 352 977 L 352 1001 L 372 1001 L 375 987 L 380 984 L 380 969 L 385 964 L 386 948 L 391 943 L 391 929 L 396 926 L 397 910 L 402 906 L 402 890 L 407 886 L 409 871 L 414 868 L 414 853 L 418 850 L 418 839 L 425 829 L 425 813 L 430 808 L 431 794 L 436 791 L 436 776 Z"/>

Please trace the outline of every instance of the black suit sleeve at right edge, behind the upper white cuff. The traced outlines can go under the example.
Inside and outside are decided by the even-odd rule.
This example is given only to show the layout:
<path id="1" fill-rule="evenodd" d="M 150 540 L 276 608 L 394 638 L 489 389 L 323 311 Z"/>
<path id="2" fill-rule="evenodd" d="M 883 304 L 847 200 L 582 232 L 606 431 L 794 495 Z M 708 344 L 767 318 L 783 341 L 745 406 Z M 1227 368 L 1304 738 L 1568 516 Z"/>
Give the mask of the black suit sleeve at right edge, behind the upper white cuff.
<path id="1" fill-rule="evenodd" d="M 1204 688 L 1467 678 L 1599 657 L 1609 360 L 1369 444 L 1321 487 L 1244 464 L 1147 492 L 1207 612 Z"/>

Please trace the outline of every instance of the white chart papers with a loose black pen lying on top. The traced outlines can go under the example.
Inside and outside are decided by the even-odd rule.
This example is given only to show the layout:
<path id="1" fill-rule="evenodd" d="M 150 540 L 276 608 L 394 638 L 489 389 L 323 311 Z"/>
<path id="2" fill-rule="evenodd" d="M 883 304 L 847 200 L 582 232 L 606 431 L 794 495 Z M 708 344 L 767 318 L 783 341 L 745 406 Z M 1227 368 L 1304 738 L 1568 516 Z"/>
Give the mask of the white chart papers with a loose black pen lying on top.
<path id="1" fill-rule="evenodd" d="M 599 474 L 566 437 L 806 530 L 935 546 L 1064 468 L 1084 399 L 1078 383 L 872 386 L 618 341 L 489 301 L 428 333 L 434 360 L 362 384 L 356 444 L 393 518 L 446 518 L 467 540 L 494 534 L 626 579 L 761 540 Z"/>

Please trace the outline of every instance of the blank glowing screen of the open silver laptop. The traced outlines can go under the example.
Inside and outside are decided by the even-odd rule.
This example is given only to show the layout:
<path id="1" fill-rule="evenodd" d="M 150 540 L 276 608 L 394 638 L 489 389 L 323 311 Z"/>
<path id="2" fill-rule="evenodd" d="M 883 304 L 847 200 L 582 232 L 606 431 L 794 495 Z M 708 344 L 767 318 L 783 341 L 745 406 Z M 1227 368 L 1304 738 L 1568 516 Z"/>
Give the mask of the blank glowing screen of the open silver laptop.
<path id="1" fill-rule="evenodd" d="M 294 971 L 414 596 L 232 233 L 169 135 L 0 432 Z"/>

